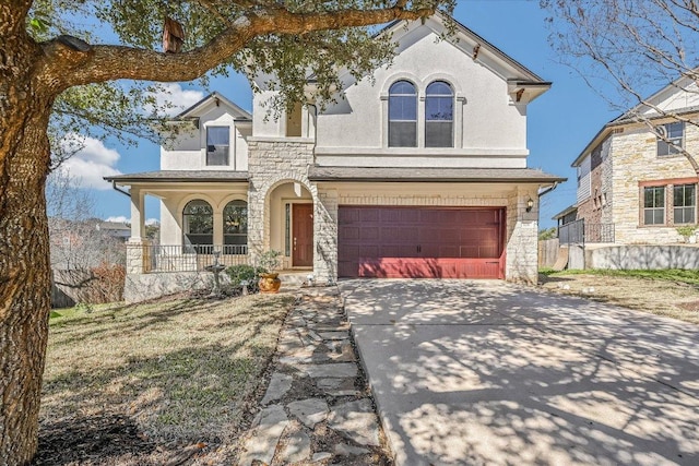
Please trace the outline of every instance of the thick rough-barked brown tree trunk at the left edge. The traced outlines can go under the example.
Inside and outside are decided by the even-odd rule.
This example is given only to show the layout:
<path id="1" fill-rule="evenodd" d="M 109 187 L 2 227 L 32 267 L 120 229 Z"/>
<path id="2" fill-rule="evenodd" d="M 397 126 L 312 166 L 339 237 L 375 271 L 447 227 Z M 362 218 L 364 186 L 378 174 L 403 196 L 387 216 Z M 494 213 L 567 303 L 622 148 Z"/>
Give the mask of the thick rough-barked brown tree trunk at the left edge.
<path id="1" fill-rule="evenodd" d="M 0 48 L 0 465 L 24 465 L 38 443 L 48 339 L 44 186 L 54 96 L 36 77 L 38 46 L 21 36 L 5 39 Z"/>

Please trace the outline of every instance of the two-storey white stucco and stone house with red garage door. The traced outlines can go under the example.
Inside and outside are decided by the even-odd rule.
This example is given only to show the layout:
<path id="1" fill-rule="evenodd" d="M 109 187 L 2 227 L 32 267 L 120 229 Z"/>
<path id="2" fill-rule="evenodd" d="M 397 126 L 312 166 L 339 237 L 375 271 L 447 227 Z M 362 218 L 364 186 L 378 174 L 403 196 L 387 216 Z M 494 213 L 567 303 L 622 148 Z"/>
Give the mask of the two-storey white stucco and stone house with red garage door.
<path id="1" fill-rule="evenodd" d="M 274 249 L 318 283 L 536 282 L 538 192 L 565 179 L 528 168 L 526 106 L 550 83 L 462 25 L 451 40 L 443 31 L 439 15 L 390 25 L 393 64 L 374 83 L 345 73 L 323 111 L 269 118 L 275 93 L 260 76 L 251 115 L 213 93 L 178 116 L 159 171 L 106 178 L 130 188 L 128 272 L 164 254 L 253 263 Z M 144 195 L 162 202 L 152 252 Z"/>

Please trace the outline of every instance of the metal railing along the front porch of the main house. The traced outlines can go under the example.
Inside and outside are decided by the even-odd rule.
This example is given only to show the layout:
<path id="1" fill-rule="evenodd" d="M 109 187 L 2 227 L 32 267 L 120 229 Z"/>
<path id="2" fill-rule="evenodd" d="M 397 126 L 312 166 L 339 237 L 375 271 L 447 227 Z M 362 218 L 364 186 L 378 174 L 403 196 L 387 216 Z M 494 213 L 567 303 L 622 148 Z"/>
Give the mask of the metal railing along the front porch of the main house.
<path id="1" fill-rule="evenodd" d="M 248 247 L 245 244 L 185 244 L 161 246 L 140 244 L 142 248 L 143 272 L 199 272 L 214 263 L 230 266 L 248 263 Z"/>

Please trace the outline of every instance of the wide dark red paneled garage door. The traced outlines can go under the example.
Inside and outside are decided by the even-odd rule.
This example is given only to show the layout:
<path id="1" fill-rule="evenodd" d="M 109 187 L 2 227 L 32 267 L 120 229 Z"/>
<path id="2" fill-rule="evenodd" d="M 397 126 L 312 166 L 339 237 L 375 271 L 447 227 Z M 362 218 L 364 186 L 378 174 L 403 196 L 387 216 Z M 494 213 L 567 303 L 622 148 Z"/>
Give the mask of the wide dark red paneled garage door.
<path id="1" fill-rule="evenodd" d="M 341 277 L 505 278 L 503 208 L 340 206 Z"/>

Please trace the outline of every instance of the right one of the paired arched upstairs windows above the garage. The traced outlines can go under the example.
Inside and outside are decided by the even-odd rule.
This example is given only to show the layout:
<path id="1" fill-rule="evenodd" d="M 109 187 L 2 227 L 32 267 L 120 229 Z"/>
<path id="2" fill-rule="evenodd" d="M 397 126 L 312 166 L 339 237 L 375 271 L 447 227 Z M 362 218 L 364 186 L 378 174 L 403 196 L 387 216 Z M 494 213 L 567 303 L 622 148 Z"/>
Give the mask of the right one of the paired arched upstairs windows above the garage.
<path id="1" fill-rule="evenodd" d="M 425 98 L 425 147 L 454 146 L 454 93 L 451 85 L 435 81 Z"/>

